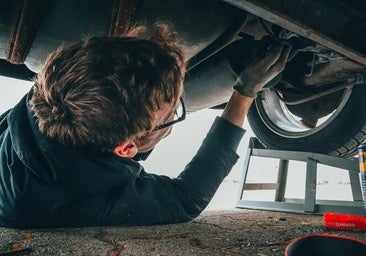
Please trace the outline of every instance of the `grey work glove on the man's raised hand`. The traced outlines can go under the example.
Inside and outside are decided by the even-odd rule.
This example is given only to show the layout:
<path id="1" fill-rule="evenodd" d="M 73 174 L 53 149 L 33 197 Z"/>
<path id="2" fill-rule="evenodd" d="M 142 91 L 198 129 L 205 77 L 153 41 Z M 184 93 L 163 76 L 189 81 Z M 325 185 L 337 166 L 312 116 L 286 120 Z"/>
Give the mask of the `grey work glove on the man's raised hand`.
<path id="1" fill-rule="evenodd" d="M 285 69 L 290 51 L 289 45 L 272 45 L 262 58 L 254 59 L 240 73 L 233 89 L 241 95 L 255 98 L 266 83 Z"/>

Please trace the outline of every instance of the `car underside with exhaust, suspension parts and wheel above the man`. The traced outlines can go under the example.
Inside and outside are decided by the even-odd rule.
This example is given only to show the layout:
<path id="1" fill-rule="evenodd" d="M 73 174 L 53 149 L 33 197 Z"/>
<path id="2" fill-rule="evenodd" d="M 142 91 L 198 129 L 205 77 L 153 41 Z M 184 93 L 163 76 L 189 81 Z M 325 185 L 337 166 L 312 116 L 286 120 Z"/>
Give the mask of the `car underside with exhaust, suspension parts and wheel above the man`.
<path id="1" fill-rule="evenodd" d="M 265 147 L 348 157 L 366 138 L 366 6 L 362 0 L 2 0 L 0 75 L 32 79 L 47 55 L 134 24 L 168 22 L 187 56 L 188 111 L 221 108 L 237 74 L 274 42 L 292 46 L 255 99 Z"/>

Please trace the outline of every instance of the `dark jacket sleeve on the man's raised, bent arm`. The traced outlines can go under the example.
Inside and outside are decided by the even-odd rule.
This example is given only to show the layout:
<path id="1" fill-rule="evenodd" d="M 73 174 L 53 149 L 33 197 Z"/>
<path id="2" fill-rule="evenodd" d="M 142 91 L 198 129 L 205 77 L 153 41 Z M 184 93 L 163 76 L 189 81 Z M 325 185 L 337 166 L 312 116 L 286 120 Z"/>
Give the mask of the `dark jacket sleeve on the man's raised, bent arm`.
<path id="1" fill-rule="evenodd" d="M 196 218 L 208 205 L 239 156 L 245 130 L 216 118 L 201 147 L 175 179 L 142 170 L 134 182 L 114 191 L 104 225 L 153 225 Z"/>

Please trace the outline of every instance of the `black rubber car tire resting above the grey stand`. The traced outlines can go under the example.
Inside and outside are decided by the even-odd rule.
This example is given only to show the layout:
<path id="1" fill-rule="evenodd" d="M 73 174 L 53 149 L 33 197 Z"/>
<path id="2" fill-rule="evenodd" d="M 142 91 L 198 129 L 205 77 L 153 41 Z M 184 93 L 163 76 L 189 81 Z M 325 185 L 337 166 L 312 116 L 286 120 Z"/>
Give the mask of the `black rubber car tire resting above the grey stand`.
<path id="1" fill-rule="evenodd" d="M 285 104 L 280 102 L 278 94 L 267 89 L 258 95 L 248 113 L 254 134 L 266 148 L 350 157 L 357 153 L 358 145 L 366 138 L 365 85 L 344 90 L 337 109 L 325 123 L 313 129 L 296 131 L 281 125 L 282 117 L 272 114 L 280 110 L 280 105 L 283 108 Z"/>

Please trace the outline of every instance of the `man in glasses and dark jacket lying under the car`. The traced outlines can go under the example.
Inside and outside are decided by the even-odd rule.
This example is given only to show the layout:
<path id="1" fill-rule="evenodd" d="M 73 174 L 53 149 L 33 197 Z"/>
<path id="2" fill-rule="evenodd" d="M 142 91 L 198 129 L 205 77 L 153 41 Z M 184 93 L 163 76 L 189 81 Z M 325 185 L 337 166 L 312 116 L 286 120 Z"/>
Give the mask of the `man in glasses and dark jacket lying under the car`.
<path id="1" fill-rule="evenodd" d="M 179 223 L 205 209 L 238 159 L 253 98 L 290 48 L 273 45 L 241 72 L 221 117 L 171 179 L 138 161 L 185 117 L 177 38 L 156 24 L 49 56 L 29 93 L 0 116 L 1 226 Z"/>

